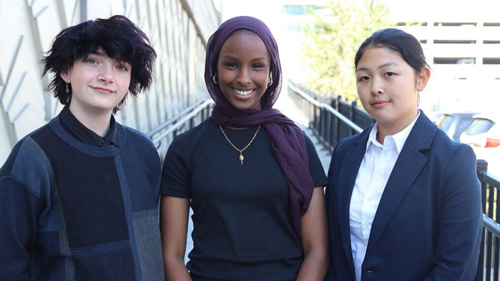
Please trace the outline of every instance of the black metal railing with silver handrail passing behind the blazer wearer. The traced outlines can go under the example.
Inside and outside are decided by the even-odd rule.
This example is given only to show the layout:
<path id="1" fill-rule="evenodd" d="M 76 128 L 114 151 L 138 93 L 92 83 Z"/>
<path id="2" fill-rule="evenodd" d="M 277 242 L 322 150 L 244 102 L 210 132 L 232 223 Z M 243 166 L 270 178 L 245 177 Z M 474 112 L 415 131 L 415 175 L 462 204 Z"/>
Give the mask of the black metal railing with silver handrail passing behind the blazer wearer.
<path id="1" fill-rule="evenodd" d="M 335 109 L 318 101 L 317 97 L 314 98 L 309 93 L 311 91 L 308 89 L 293 82 L 288 83 L 288 96 L 309 119 L 309 127 L 321 144 L 330 151 L 340 139 L 361 132 L 361 127 L 371 123 L 371 117 L 364 116 L 367 115 L 366 112 L 353 108 L 355 103 L 347 108 L 345 102 L 336 98 L 331 102 L 336 103 Z M 346 116 L 342 112 L 350 113 L 345 113 Z M 500 196 L 500 178 L 487 171 L 487 163 L 482 159 L 477 160 L 477 177 L 481 182 L 483 235 L 474 280 L 498 281 L 500 280 L 500 206 L 497 200 Z"/>

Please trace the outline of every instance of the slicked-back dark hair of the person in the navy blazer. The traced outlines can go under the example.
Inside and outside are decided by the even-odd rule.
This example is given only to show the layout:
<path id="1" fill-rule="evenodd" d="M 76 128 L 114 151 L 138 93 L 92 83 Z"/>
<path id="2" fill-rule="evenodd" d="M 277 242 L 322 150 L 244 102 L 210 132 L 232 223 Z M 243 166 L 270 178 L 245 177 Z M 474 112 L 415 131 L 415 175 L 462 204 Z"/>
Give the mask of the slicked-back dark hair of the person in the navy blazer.
<path id="1" fill-rule="evenodd" d="M 367 47 L 390 49 L 406 61 L 413 68 L 415 74 L 418 74 L 422 67 L 428 66 L 420 42 L 413 35 L 401 29 L 380 29 L 366 38 L 357 49 L 354 57 L 355 69 L 357 69 L 357 63 Z"/>

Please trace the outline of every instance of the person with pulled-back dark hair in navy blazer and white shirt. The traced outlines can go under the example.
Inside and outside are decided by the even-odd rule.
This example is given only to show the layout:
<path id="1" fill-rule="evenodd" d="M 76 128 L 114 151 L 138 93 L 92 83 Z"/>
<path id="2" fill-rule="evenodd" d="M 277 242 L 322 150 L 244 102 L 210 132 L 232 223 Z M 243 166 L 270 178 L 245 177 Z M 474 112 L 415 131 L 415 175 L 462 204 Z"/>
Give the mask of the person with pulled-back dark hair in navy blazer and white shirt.
<path id="1" fill-rule="evenodd" d="M 482 234 L 475 155 L 417 109 L 430 76 L 420 43 L 381 29 L 354 65 L 376 122 L 331 156 L 325 280 L 473 280 Z"/>

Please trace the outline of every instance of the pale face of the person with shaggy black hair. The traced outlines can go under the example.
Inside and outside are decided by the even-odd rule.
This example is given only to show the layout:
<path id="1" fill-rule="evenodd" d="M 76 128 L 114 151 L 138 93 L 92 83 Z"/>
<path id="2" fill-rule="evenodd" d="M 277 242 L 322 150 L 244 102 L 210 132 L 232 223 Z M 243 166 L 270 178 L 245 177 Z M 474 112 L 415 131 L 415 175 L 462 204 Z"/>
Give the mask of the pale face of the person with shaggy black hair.
<path id="1" fill-rule="evenodd" d="M 67 72 L 60 73 L 71 83 L 69 110 L 73 114 L 110 114 L 128 91 L 131 70 L 128 62 L 116 61 L 102 51 L 74 61 Z"/>

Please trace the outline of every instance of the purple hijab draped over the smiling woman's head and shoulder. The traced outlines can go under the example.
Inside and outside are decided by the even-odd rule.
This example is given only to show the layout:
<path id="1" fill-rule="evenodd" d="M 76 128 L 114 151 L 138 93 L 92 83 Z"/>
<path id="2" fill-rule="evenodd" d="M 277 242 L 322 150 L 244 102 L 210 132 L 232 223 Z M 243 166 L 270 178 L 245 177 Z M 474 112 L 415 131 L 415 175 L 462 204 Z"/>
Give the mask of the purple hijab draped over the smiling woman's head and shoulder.
<path id="1" fill-rule="evenodd" d="M 257 33 L 271 55 L 270 69 L 273 83 L 267 87 L 260 99 L 262 110 L 234 108 L 212 80 L 222 44 L 233 31 L 240 28 Z M 274 156 L 288 183 L 291 220 L 296 234 L 300 236 L 300 217 L 307 211 L 314 183 L 309 173 L 309 161 L 302 131 L 283 113 L 272 108 L 281 89 L 281 65 L 276 41 L 265 23 L 251 16 L 237 16 L 223 22 L 210 36 L 206 45 L 205 83 L 215 101 L 212 118 L 217 125 L 234 127 L 262 125 L 266 129 Z"/>

